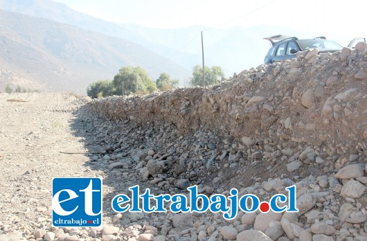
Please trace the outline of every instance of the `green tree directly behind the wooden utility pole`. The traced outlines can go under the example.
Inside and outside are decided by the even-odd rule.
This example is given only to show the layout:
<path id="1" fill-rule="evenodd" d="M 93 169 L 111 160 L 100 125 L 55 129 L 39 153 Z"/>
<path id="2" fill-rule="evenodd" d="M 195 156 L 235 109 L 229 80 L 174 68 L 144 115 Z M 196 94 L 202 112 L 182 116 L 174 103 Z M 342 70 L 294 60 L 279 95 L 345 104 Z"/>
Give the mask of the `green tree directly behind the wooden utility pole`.
<path id="1" fill-rule="evenodd" d="M 224 78 L 224 71 L 220 66 L 213 66 L 209 69 L 205 66 L 205 86 L 219 83 Z M 196 65 L 193 68 L 193 77 L 190 79 L 190 84 L 193 86 L 203 86 L 203 68 Z"/>

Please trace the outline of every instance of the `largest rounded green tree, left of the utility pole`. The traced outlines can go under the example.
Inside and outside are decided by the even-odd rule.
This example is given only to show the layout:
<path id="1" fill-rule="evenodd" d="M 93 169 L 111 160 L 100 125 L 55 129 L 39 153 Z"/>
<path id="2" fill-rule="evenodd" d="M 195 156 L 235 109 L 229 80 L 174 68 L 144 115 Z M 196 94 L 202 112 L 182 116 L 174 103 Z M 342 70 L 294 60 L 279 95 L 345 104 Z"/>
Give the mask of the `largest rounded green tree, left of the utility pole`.
<path id="1" fill-rule="evenodd" d="M 114 87 L 120 95 L 156 91 L 156 84 L 150 80 L 147 72 L 133 66 L 124 66 L 118 71 L 114 77 Z"/>

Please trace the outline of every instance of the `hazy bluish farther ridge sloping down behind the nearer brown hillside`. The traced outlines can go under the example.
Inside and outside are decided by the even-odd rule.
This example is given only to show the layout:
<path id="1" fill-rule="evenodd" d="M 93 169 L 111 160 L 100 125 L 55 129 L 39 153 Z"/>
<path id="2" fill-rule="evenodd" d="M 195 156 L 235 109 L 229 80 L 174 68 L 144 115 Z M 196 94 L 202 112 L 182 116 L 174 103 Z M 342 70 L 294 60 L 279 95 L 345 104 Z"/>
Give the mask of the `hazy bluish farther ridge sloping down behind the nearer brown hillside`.
<path id="1" fill-rule="evenodd" d="M 185 35 L 179 35 L 174 39 L 177 42 L 174 46 L 167 46 L 165 43 L 161 43 L 154 39 L 154 35 L 161 35 L 161 31 L 153 31 L 154 35 L 144 36 L 140 33 L 141 27 L 133 26 L 129 24 L 116 24 L 109 21 L 104 21 L 96 17 L 91 17 L 85 15 L 81 12 L 77 12 L 63 3 L 57 3 L 51 0 L 0 0 L 0 9 L 7 10 L 9 12 L 17 12 L 24 15 L 29 15 L 32 17 L 40 17 L 44 19 L 51 19 L 63 24 L 69 24 L 73 26 L 78 26 L 84 30 L 90 30 L 93 32 L 103 33 L 111 37 L 119 37 L 126 39 L 129 42 L 134 42 L 139 44 L 154 53 L 159 53 L 165 57 L 162 61 L 157 61 L 154 66 L 157 69 L 169 69 L 172 62 L 168 61 L 166 58 L 177 53 L 177 48 L 181 47 L 181 42 L 186 41 Z M 150 28 L 143 28 L 143 31 L 150 32 Z M 163 33 L 164 34 L 164 33 Z M 165 38 L 165 35 L 161 36 Z M 159 37 L 159 39 L 161 38 Z M 166 36 L 168 37 L 168 36 Z M 181 38 L 183 37 L 183 38 Z M 169 38 L 170 39 L 170 38 Z M 195 64 L 199 63 L 201 60 L 201 55 L 192 55 L 190 53 L 179 53 L 178 60 L 181 60 L 180 65 L 185 66 L 186 69 L 191 69 Z M 154 70 L 154 69 L 153 69 Z M 170 73 L 170 72 L 169 72 Z M 177 78 L 182 78 L 181 73 L 170 73 Z M 189 75 L 185 75 L 187 78 Z"/>

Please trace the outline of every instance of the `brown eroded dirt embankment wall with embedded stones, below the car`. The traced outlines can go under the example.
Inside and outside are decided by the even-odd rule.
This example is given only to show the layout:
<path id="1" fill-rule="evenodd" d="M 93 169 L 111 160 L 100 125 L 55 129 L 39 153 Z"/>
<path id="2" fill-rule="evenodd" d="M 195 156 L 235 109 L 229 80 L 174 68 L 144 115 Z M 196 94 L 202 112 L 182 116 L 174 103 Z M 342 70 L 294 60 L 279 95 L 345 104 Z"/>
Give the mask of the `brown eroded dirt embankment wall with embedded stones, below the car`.
<path id="1" fill-rule="evenodd" d="M 297 59 L 242 71 L 205 89 L 114 96 L 89 105 L 105 118 L 173 123 L 182 132 L 204 128 L 248 146 L 284 139 L 366 153 L 367 44 L 332 54 L 298 52 Z"/>

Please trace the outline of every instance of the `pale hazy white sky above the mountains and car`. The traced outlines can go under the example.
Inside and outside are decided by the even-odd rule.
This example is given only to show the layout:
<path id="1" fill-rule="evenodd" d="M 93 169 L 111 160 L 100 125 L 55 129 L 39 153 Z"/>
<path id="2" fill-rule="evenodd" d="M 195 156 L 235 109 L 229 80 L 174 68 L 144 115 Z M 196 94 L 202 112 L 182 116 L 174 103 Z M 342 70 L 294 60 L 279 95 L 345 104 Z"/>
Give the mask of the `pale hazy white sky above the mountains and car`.
<path id="1" fill-rule="evenodd" d="M 56 0 L 94 17 L 150 28 L 286 26 L 342 45 L 367 36 L 366 0 Z M 285 34 L 287 33 L 280 33 Z"/>

